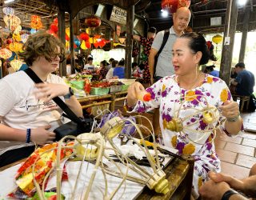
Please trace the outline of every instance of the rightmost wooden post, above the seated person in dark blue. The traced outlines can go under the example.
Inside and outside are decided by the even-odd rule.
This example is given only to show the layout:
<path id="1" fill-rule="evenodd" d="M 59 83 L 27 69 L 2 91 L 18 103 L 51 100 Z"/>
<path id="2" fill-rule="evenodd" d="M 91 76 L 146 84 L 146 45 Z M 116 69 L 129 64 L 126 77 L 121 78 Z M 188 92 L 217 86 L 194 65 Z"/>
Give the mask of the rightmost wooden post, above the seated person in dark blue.
<path id="1" fill-rule="evenodd" d="M 245 53 L 246 53 L 246 39 L 248 33 L 248 26 L 249 26 L 249 18 L 250 18 L 250 6 L 246 6 L 244 9 L 244 16 L 243 16 L 243 26 L 242 26 L 242 39 L 240 45 L 240 53 L 239 53 L 239 62 L 244 62 Z"/>

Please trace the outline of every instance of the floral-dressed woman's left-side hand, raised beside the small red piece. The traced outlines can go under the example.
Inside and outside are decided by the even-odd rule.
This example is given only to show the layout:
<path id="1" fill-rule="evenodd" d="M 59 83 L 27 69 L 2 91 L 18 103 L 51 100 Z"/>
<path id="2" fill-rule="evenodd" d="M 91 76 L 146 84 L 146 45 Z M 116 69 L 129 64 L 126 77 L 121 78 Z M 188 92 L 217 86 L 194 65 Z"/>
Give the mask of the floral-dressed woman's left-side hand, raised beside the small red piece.
<path id="1" fill-rule="evenodd" d="M 138 102 L 138 94 L 145 91 L 140 82 L 134 82 L 128 88 L 127 103 L 128 106 L 134 106 Z"/>

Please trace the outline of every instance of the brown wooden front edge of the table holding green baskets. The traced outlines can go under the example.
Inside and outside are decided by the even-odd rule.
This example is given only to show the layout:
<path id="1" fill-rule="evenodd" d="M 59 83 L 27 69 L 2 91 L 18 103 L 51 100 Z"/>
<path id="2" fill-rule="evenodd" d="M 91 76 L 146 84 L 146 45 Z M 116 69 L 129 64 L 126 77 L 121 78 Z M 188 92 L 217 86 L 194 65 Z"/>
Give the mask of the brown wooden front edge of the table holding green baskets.
<path id="1" fill-rule="evenodd" d="M 115 102 L 126 99 L 127 90 L 103 95 L 88 95 L 84 98 L 78 98 L 78 102 L 82 105 L 82 109 L 92 106 L 100 106 L 110 104 L 110 111 L 114 111 Z"/>

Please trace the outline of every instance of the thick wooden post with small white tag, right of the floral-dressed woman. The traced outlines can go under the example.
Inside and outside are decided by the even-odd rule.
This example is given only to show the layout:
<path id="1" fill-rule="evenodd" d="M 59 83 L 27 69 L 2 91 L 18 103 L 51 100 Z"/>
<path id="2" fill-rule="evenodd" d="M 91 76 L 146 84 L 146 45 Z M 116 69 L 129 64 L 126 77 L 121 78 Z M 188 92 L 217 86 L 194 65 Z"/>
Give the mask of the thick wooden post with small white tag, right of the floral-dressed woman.
<path id="1" fill-rule="evenodd" d="M 224 41 L 222 46 L 222 61 L 220 78 L 230 85 L 231 63 L 234 47 L 234 34 L 237 26 L 238 5 L 233 0 L 227 1 Z M 229 40 L 229 41 L 228 41 Z"/>

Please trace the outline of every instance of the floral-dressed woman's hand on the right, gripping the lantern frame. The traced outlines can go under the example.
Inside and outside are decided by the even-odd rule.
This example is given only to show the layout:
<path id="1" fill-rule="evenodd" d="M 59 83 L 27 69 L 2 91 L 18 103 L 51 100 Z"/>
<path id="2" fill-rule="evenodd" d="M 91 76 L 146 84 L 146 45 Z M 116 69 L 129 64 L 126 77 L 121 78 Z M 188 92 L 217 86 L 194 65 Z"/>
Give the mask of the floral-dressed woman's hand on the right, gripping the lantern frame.
<path id="1" fill-rule="evenodd" d="M 226 101 L 223 106 L 220 106 L 220 109 L 226 118 L 238 118 L 240 114 L 238 102 Z"/>

